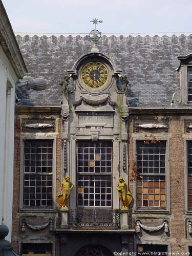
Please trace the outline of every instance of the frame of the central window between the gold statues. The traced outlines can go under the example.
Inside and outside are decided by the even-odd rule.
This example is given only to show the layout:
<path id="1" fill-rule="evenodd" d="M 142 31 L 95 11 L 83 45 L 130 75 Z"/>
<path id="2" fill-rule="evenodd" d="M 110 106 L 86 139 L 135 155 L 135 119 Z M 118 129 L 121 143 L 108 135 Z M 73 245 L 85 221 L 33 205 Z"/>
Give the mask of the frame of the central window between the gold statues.
<path id="1" fill-rule="evenodd" d="M 78 206 L 78 175 L 91 175 L 91 173 L 78 173 L 78 158 L 77 158 L 77 154 L 78 154 L 78 143 L 79 142 L 92 142 L 92 140 L 85 140 L 85 139 L 78 139 L 76 141 L 76 172 L 75 172 L 75 175 L 76 175 L 76 193 L 75 193 L 75 197 L 76 197 L 76 208 L 77 209 L 113 209 L 113 206 L 114 206 L 114 198 L 113 198 L 113 169 L 114 169 L 114 143 L 113 143 L 113 140 L 109 140 L 109 139 L 102 139 L 102 140 L 98 140 L 100 142 L 111 142 L 112 143 L 112 154 L 111 154 L 111 161 L 112 161 L 112 165 L 111 165 L 111 173 L 98 173 L 98 174 L 95 174 L 93 173 L 93 175 L 95 176 L 111 176 L 111 206 Z"/>

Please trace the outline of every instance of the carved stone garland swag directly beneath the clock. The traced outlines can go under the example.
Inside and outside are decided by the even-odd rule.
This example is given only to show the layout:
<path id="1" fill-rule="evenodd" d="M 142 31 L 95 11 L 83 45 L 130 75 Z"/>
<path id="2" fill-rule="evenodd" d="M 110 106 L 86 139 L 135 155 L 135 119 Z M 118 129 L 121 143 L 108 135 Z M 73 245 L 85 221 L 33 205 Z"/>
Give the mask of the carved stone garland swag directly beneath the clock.
<path id="1" fill-rule="evenodd" d="M 115 101 L 112 101 L 110 99 L 110 96 L 105 96 L 105 97 L 100 97 L 100 99 L 95 99 L 95 97 L 91 98 L 90 95 L 85 97 L 85 96 L 80 96 L 80 99 L 73 102 L 74 106 L 78 106 L 82 103 L 82 101 L 86 102 L 88 105 L 100 105 L 105 103 L 106 101 L 109 102 L 110 105 L 115 106 L 117 103 Z"/>

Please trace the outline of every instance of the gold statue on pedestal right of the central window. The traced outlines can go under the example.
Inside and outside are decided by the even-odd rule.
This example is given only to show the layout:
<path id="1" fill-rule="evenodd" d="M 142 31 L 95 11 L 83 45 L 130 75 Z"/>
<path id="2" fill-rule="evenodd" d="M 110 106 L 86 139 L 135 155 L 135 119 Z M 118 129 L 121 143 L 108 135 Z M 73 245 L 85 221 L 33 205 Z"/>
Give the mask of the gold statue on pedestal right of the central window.
<path id="1" fill-rule="evenodd" d="M 126 188 L 125 188 L 126 187 Z M 121 201 L 122 209 L 127 209 L 127 206 L 132 202 L 132 194 L 129 191 L 129 187 L 122 177 L 119 177 L 119 183 L 117 184 L 117 190 L 119 192 L 119 199 Z"/>

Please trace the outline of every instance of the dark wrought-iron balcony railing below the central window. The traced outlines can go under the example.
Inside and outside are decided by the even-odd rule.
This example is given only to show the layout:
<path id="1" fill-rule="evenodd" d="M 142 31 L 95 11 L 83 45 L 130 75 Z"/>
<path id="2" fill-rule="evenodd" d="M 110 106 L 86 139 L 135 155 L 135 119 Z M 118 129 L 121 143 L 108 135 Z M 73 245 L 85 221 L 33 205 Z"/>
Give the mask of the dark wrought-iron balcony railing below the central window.
<path id="1" fill-rule="evenodd" d="M 72 229 L 120 229 L 120 210 L 69 210 L 68 225 Z"/>

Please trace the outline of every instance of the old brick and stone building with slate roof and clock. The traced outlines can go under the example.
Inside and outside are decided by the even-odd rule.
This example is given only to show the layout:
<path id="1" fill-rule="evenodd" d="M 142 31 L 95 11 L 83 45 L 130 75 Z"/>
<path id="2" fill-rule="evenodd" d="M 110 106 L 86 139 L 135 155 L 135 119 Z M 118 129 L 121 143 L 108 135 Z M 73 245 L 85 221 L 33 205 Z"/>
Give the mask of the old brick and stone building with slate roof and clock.
<path id="1" fill-rule="evenodd" d="M 42 93 L 16 91 L 17 252 L 190 252 L 190 33 L 16 38 L 29 75 L 49 82 Z M 61 208 L 66 176 L 74 186 Z"/>

